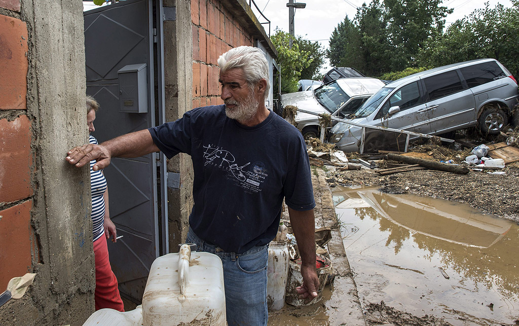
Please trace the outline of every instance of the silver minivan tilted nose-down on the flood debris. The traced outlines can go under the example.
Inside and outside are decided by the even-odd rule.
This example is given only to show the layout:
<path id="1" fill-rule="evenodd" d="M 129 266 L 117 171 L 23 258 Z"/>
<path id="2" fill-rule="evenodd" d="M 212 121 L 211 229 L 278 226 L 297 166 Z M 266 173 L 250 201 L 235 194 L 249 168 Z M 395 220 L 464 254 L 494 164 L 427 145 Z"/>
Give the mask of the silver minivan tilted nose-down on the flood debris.
<path id="1" fill-rule="evenodd" d="M 347 118 L 362 125 L 425 134 L 444 134 L 470 126 L 478 126 L 485 134 L 498 134 L 508 124 L 518 97 L 512 74 L 495 59 L 480 59 L 395 80 Z M 361 137 L 362 127 L 338 123 L 331 129 L 330 141 L 339 150 L 358 152 Z M 364 152 L 387 149 L 390 142 L 394 143 L 391 137 L 367 128 Z"/>

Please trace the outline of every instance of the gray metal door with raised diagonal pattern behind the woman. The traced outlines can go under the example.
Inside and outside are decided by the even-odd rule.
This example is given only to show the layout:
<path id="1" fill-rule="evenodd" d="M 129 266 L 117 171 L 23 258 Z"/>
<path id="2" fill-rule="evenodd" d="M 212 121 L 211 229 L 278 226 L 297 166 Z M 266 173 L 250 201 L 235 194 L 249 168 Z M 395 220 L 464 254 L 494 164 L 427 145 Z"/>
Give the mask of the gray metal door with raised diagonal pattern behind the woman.
<path id="1" fill-rule="evenodd" d="M 157 3 L 161 11 L 161 1 Z M 84 13 L 87 94 L 101 105 L 93 132 L 100 143 L 156 126 L 156 116 L 157 122 L 162 122 L 160 42 L 158 46 L 155 44 L 160 53 L 154 55 L 154 37 L 160 38 L 156 34 L 158 30 L 161 35 L 162 21 L 154 22 L 155 17 L 159 15 L 154 16 L 151 0 L 127 0 Z M 121 87 L 120 93 L 117 72 L 139 64 L 141 67 L 145 64 L 143 88 L 147 112 L 124 112 L 120 110 L 119 96 L 131 89 Z M 119 281 L 119 291 L 137 303 L 142 300 L 149 267 L 156 257 L 168 252 L 167 223 L 163 223 L 167 221 L 167 205 L 161 205 L 166 192 L 157 188 L 166 184 L 164 173 L 164 157 L 157 153 L 134 159 L 114 158 L 104 170 L 110 216 L 117 235 L 123 236 L 117 243 L 108 241 L 110 262 Z"/>

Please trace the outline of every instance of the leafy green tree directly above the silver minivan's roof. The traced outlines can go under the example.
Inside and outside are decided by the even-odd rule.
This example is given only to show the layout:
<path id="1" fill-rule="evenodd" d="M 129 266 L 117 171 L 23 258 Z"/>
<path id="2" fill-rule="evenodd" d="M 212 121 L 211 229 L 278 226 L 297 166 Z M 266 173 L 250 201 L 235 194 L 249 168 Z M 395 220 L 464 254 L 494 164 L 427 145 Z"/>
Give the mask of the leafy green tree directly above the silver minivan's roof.
<path id="1" fill-rule="evenodd" d="M 474 10 L 419 52 L 423 65 L 441 66 L 461 61 L 494 58 L 514 75 L 519 74 L 519 1 Z"/>

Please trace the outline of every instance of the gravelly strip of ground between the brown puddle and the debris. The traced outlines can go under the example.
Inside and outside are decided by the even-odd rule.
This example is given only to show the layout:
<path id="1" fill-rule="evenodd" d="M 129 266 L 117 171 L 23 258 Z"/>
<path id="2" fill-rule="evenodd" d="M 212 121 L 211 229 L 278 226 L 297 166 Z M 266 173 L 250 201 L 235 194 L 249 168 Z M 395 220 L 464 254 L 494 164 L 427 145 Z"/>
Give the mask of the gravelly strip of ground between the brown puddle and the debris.
<path id="1" fill-rule="evenodd" d="M 415 170 L 383 176 L 370 169 L 338 171 L 329 167 L 326 176 L 331 187 L 379 186 L 387 193 L 411 193 L 467 203 L 484 213 L 519 222 L 519 168 L 511 166 L 501 171 L 505 174 Z"/>

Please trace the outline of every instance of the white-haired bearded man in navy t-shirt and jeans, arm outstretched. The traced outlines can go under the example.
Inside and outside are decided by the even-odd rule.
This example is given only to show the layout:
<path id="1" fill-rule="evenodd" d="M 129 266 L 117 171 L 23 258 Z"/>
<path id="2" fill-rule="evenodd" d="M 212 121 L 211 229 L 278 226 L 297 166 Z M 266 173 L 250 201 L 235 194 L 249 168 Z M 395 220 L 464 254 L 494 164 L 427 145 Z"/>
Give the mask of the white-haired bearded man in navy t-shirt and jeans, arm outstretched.
<path id="1" fill-rule="evenodd" d="M 229 325 L 266 325 L 268 243 L 276 236 L 283 198 L 302 256 L 300 298 L 317 296 L 313 192 L 301 133 L 265 107 L 268 63 L 241 46 L 218 59 L 225 105 L 198 107 L 174 122 L 67 153 L 77 167 L 96 159 L 162 151 L 193 161 L 194 207 L 186 242 L 222 259 Z"/>

